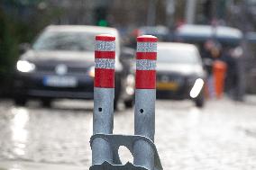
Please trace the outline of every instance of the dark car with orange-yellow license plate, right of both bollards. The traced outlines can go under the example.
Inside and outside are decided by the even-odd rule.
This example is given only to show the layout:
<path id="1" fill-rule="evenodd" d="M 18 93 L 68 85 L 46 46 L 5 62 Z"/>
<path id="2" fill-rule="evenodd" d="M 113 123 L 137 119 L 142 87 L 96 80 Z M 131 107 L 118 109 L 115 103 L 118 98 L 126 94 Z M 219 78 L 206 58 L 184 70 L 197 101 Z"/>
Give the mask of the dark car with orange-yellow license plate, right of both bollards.
<path id="1" fill-rule="evenodd" d="M 191 99 L 204 105 L 205 71 L 195 45 L 158 43 L 157 97 Z"/>

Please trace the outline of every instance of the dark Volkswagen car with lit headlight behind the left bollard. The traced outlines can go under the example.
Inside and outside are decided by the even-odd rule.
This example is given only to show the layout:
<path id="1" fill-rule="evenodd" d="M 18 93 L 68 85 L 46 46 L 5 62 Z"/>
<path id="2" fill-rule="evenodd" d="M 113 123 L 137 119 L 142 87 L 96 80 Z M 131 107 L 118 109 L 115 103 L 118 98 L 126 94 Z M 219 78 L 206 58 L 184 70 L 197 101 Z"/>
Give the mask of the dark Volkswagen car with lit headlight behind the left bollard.
<path id="1" fill-rule="evenodd" d="M 49 26 L 17 61 L 14 102 L 24 105 L 39 98 L 50 106 L 53 99 L 93 99 L 95 76 L 95 36 L 108 33 L 116 37 L 114 106 L 122 99 L 133 103 L 133 74 L 123 67 L 118 31 L 96 26 Z M 128 89 L 128 90 L 127 90 Z"/>

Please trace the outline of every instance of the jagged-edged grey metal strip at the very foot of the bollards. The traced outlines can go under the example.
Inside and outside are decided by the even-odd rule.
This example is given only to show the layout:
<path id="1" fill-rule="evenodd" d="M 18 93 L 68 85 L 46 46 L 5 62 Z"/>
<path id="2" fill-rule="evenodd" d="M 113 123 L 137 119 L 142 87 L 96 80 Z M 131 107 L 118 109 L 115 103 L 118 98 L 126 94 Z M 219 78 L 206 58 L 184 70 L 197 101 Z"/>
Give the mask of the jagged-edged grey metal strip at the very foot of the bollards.
<path id="1" fill-rule="evenodd" d="M 147 170 L 141 166 L 134 166 L 130 162 L 125 165 L 112 165 L 108 162 L 104 162 L 102 165 L 94 165 L 90 167 L 90 170 Z"/>

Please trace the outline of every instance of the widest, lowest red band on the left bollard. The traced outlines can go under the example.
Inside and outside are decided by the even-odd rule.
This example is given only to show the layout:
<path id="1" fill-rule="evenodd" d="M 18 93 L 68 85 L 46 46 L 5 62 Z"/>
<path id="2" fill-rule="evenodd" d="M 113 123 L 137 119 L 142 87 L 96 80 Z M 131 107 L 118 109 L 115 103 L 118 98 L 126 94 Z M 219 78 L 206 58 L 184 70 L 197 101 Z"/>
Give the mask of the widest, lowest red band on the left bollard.
<path id="1" fill-rule="evenodd" d="M 95 87 L 114 88 L 114 69 L 95 69 Z"/>

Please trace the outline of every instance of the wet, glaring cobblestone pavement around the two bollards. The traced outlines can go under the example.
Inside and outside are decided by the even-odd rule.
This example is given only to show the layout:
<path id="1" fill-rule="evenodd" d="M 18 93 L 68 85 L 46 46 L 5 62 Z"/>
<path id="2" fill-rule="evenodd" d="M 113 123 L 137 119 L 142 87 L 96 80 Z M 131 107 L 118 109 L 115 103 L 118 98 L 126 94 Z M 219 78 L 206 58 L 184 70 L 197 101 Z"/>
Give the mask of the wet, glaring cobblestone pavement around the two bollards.
<path id="1" fill-rule="evenodd" d="M 52 109 L 37 103 L 0 103 L 1 162 L 91 164 L 92 102 L 64 101 Z M 114 133 L 133 134 L 133 110 L 116 112 Z M 256 169 L 256 104 L 158 101 L 155 143 L 164 169 Z M 127 150 L 126 150 L 127 151 Z M 124 162 L 132 160 L 122 152 Z"/>

